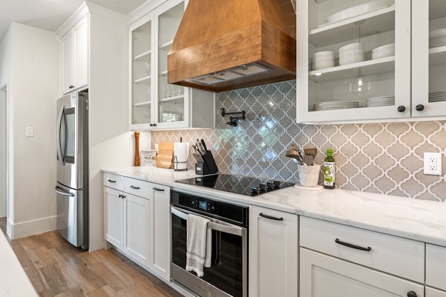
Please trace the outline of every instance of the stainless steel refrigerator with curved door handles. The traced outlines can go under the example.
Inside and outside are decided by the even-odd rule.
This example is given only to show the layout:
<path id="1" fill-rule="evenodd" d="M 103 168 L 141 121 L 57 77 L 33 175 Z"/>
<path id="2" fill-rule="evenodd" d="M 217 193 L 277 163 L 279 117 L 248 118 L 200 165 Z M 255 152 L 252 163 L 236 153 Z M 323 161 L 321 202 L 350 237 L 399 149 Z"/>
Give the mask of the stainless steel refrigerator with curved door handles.
<path id="1" fill-rule="evenodd" d="M 89 247 L 89 95 L 57 100 L 56 227 L 73 246 Z"/>

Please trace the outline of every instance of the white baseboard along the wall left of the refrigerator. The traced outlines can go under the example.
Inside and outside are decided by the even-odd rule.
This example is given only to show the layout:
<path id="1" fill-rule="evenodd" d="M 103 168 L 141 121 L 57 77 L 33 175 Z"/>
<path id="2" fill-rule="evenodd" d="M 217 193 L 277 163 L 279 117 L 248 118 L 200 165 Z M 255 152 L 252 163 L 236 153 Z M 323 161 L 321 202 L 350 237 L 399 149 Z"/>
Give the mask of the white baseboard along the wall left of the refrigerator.
<path id="1" fill-rule="evenodd" d="M 8 220 L 7 229 L 10 239 L 20 239 L 26 236 L 53 231 L 56 230 L 56 216 L 16 224 L 11 224 Z"/>

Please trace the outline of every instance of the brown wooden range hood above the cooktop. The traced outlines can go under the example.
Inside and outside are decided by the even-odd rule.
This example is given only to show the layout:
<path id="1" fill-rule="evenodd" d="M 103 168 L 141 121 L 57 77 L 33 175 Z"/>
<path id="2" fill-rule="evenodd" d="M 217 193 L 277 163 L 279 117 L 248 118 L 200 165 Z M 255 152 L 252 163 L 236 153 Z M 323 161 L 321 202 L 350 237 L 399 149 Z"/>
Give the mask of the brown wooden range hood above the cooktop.
<path id="1" fill-rule="evenodd" d="M 290 0 L 190 0 L 168 82 L 222 92 L 295 79 L 295 20 Z"/>

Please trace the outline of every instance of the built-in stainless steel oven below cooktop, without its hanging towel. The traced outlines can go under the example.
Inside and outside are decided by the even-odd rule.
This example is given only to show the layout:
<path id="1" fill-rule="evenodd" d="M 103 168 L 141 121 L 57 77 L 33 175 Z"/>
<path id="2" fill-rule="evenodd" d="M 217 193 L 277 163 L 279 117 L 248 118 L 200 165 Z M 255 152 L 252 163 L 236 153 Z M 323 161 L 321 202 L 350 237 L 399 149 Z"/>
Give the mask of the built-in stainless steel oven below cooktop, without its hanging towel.
<path id="1" fill-rule="evenodd" d="M 185 270 L 187 215 L 208 218 L 212 260 L 204 275 Z M 171 279 L 199 296 L 247 296 L 248 208 L 171 191 Z"/>

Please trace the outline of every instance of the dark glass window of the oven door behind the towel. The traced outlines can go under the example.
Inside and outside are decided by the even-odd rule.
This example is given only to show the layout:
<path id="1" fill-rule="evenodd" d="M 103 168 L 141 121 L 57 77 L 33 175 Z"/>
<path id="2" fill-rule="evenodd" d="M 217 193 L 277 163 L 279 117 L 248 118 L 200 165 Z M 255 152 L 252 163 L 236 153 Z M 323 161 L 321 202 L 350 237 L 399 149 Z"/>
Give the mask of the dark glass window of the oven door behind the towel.
<path id="1" fill-rule="evenodd" d="M 174 214 L 171 217 L 172 262 L 185 269 L 187 221 Z M 213 230 L 212 241 L 212 264 L 209 268 L 204 268 L 202 279 L 232 296 L 241 297 L 243 295 L 242 237 Z"/>

